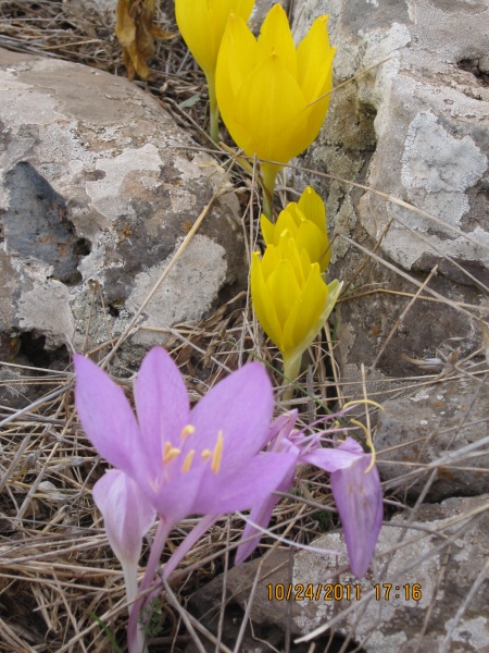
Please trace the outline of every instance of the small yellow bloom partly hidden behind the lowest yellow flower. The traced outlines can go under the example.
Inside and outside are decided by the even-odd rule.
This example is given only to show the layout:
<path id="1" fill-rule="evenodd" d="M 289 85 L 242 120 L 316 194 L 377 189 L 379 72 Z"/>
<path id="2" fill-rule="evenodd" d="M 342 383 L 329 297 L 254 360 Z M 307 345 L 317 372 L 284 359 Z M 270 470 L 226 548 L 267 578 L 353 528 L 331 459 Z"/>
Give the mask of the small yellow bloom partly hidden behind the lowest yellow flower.
<path id="1" fill-rule="evenodd" d="M 305 249 L 311 262 L 319 263 L 322 272 L 329 266 L 326 209 L 311 186 L 305 188 L 298 202 L 291 201 L 286 206 L 275 224 L 262 214 L 261 225 L 266 245 L 278 245 L 281 235 L 287 233 L 296 241 L 299 251 Z"/>

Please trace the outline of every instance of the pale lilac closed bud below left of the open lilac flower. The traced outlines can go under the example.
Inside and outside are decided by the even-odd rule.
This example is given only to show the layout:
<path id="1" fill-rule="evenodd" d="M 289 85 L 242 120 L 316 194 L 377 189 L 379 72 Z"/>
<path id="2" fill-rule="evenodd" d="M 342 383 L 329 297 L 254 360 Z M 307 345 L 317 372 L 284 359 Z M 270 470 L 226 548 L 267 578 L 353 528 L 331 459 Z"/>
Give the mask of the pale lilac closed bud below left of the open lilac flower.
<path id="1" fill-rule="evenodd" d="M 154 522 L 156 513 L 137 484 L 123 471 L 108 471 L 93 485 L 93 500 L 113 552 L 122 564 L 137 564 L 142 538 Z"/>

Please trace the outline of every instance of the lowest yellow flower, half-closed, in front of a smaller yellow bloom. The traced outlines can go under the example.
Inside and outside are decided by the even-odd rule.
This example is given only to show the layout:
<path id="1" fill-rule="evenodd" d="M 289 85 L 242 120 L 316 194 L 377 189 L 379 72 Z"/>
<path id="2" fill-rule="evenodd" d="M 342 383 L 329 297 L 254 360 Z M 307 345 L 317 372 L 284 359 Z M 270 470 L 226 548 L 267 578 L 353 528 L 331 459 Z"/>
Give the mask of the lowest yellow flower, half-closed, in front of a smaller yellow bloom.
<path id="1" fill-rule="evenodd" d="M 268 245 L 263 258 L 251 260 L 251 298 L 266 335 L 284 357 L 284 372 L 297 379 L 302 354 L 314 341 L 335 306 L 341 289 L 337 280 L 329 285 L 319 264 L 311 263 L 305 249 L 284 233 L 277 245 Z"/>

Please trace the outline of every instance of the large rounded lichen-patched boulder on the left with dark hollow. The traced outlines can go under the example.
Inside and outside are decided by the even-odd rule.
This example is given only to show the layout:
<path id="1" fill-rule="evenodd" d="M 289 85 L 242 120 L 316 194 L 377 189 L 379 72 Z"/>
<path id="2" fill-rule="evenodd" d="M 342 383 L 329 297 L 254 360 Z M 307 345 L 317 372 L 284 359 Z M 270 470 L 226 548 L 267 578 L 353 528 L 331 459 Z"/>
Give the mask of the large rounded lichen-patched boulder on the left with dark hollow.
<path id="1" fill-rule="evenodd" d="M 199 320 L 242 286 L 239 202 L 154 98 L 93 69 L 8 51 L 0 87 L 4 359 L 15 338 L 80 349 L 120 334 L 220 189 L 138 325 Z M 130 343 L 164 340 L 145 330 Z"/>

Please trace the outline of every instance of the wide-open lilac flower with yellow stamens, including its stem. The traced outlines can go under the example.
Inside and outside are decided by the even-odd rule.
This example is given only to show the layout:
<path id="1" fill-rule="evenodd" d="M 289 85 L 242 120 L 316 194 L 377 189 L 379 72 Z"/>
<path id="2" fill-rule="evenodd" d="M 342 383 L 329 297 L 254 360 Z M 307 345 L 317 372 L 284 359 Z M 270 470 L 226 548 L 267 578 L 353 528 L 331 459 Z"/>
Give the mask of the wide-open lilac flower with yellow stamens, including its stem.
<path id="1" fill-rule="evenodd" d="M 80 355 L 75 355 L 74 364 L 76 407 L 88 439 L 130 479 L 138 501 L 143 496 L 160 516 L 140 592 L 153 579 L 166 538 L 178 521 L 260 504 L 293 467 L 289 453 L 261 453 L 269 439 L 273 390 L 258 362 L 217 383 L 190 410 L 178 368 L 155 347 L 135 382 L 137 418 L 123 390 L 105 372 Z M 118 532 L 123 539 L 134 535 L 129 522 Z M 131 652 L 137 651 L 139 608 L 140 602 L 130 613 Z"/>

